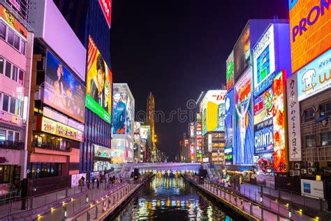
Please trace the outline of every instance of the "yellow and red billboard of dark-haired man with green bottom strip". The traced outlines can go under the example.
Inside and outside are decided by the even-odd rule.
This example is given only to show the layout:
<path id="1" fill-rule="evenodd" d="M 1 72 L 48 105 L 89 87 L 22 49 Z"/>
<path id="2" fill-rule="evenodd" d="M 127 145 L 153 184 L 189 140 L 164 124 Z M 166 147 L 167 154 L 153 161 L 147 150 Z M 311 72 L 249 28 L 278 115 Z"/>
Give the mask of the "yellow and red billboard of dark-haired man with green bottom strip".
<path id="1" fill-rule="evenodd" d="M 111 122 L 112 72 L 103 60 L 91 36 L 87 55 L 86 107 L 105 122 Z"/>

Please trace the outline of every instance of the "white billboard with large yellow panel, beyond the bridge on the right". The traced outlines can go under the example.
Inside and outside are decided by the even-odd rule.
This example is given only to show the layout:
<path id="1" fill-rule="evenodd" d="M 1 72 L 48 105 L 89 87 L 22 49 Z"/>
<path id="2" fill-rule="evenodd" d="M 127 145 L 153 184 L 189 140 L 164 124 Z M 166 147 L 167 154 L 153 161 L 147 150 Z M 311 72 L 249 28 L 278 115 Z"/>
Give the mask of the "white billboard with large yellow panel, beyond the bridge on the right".
<path id="1" fill-rule="evenodd" d="M 209 131 L 223 131 L 226 90 L 209 90 L 203 98 L 203 135 Z"/>

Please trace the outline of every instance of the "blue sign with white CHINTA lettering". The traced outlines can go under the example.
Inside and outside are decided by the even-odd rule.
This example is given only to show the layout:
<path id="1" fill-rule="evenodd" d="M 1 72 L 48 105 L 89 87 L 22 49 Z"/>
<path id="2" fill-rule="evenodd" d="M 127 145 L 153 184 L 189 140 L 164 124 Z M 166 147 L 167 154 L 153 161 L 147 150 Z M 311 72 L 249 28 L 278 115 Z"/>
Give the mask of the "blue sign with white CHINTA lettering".
<path id="1" fill-rule="evenodd" d="M 274 141 L 273 141 L 273 126 L 265 127 L 254 132 L 254 152 L 273 152 Z"/>

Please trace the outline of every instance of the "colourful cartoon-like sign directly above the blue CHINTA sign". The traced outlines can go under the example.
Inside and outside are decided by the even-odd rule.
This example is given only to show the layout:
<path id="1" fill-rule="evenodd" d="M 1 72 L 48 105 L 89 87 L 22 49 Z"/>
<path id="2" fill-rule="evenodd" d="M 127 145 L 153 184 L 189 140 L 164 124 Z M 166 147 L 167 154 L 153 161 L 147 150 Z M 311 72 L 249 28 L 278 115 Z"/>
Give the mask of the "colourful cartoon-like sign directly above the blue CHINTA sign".
<path id="1" fill-rule="evenodd" d="M 254 125 L 259 124 L 273 116 L 274 93 L 272 88 L 254 99 Z"/>

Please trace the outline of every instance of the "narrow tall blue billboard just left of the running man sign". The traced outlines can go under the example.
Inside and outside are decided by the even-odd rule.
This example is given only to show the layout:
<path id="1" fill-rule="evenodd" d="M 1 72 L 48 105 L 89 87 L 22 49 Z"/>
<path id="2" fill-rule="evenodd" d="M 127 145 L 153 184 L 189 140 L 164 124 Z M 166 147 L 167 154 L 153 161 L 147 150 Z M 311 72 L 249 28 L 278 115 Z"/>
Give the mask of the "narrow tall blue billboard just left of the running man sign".
<path id="1" fill-rule="evenodd" d="M 230 90 L 226 94 L 225 108 L 226 113 L 224 117 L 225 124 L 225 137 L 230 138 L 233 136 L 233 111 L 234 111 L 234 101 L 233 101 L 233 90 Z"/>

